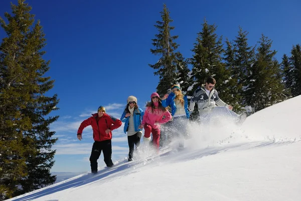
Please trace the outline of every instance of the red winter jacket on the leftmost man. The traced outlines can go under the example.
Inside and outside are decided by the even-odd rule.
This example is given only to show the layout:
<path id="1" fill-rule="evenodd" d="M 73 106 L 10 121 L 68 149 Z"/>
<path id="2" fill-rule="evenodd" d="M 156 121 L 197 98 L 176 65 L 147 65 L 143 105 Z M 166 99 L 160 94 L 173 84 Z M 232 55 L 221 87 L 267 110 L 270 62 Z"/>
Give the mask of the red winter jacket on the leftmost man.
<path id="1" fill-rule="evenodd" d="M 98 122 L 96 121 L 98 118 Z M 77 134 L 82 134 L 84 128 L 87 126 L 92 126 L 93 129 L 93 139 L 94 141 L 104 141 L 112 139 L 112 132 L 108 134 L 105 133 L 105 130 L 110 129 L 111 131 L 117 129 L 121 126 L 121 121 L 115 119 L 106 113 L 102 117 L 98 117 L 98 114 L 92 114 L 92 117 L 83 121 L 77 131 Z"/>

